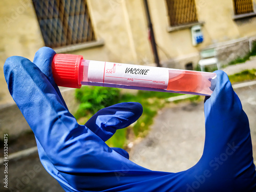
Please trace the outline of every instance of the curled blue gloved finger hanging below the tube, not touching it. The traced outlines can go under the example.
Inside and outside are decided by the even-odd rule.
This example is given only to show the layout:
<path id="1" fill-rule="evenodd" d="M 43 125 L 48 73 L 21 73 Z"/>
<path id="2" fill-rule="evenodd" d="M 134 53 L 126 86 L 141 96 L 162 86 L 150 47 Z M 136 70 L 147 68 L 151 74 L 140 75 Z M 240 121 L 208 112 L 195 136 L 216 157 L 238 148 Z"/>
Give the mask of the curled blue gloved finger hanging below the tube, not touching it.
<path id="1" fill-rule="evenodd" d="M 141 116 L 142 111 L 140 103 L 118 103 L 98 111 L 85 125 L 106 141 L 116 133 L 116 130 L 134 123 Z"/>

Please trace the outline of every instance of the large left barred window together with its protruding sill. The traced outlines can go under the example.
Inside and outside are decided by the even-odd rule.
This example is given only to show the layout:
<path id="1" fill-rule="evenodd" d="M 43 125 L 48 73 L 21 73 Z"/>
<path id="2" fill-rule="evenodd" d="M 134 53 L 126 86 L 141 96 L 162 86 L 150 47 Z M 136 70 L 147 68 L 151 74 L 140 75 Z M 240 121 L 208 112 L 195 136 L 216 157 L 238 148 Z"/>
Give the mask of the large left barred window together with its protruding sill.
<path id="1" fill-rule="evenodd" d="M 67 2 L 65 0 L 52 1 L 51 3 L 52 3 L 52 5 L 51 5 L 52 8 L 49 7 L 50 3 L 48 4 L 48 6 L 45 5 L 44 0 L 42 0 L 41 5 L 40 5 L 40 2 L 37 3 L 36 0 L 33 1 L 33 7 L 34 7 L 34 11 L 35 11 L 37 20 L 38 20 L 38 25 L 39 25 L 39 28 L 40 28 L 40 31 L 42 34 L 42 39 L 44 40 L 46 46 L 51 47 L 54 50 L 57 50 L 58 52 L 68 52 L 68 51 L 74 51 L 74 50 L 78 50 L 78 49 L 100 46 L 100 45 L 104 44 L 103 40 L 97 40 L 95 28 L 94 28 L 93 21 L 92 21 L 92 15 L 90 14 L 90 9 L 89 9 L 90 5 L 88 5 L 89 1 L 77 0 L 77 2 L 76 2 L 77 4 L 75 4 L 75 5 L 73 4 L 73 8 L 71 6 L 69 8 L 65 7 L 65 6 L 67 6 Z M 62 7 L 60 7 L 61 3 L 62 3 Z M 38 5 L 40 5 L 42 7 L 39 7 L 36 10 L 36 6 L 38 6 Z M 84 5 L 84 7 L 83 7 L 83 5 Z M 38 14 L 38 10 L 39 11 L 44 10 L 43 6 L 46 6 L 46 8 L 48 9 L 46 18 L 44 18 L 45 15 Z M 55 12 L 52 12 L 52 14 L 49 14 L 51 9 L 53 9 Z M 62 12 L 61 12 L 61 10 L 62 10 Z M 57 14 L 57 16 L 56 16 L 56 14 Z M 66 17 L 65 18 L 66 20 L 62 17 Z M 45 24 L 40 23 L 42 19 L 45 19 Z M 49 26 L 55 25 L 53 23 L 54 19 L 55 19 L 55 23 L 56 23 L 56 28 L 53 30 L 48 29 L 47 25 L 49 25 Z M 76 19 L 76 21 L 75 21 L 75 19 Z M 80 19 L 82 19 L 81 23 L 80 23 Z M 73 22 L 73 24 L 72 24 L 72 22 Z M 59 25 L 59 23 L 60 23 L 60 25 Z M 66 26 L 65 26 L 65 23 L 67 24 Z M 74 28 L 74 26 L 75 26 L 74 24 L 76 24 L 77 29 Z M 46 26 L 45 27 L 46 29 L 42 29 L 42 28 L 44 28 L 44 25 Z M 71 35 L 68 34 L 68 32 L 65 34 L 64 30 L 66 30 L 66 32 L 69 31 L 71 33 Z M 61 38 L 59 38 L 59 39 L 57 39 L 57 36 L 53 35 L 54 33 L 57 33 L 58 31 L 61 32 L 61 34 L 60 34 Z M 47 32 L 48 32 L 48 34 L 46 34 Z M 75 33 L 75 35 L 73 35 L 73 33 Z M 51 37 L 51 35 L 53 35 L 53 37 Z M 70 38 L 70 36 L 71 36 L 71 38 Z M 88 40 L 88 37 L 89 37 L 89 40 Z M 54 42 L 56 41 L 56 43 L 54 43 L 52 41 L 54 41 Z"/>

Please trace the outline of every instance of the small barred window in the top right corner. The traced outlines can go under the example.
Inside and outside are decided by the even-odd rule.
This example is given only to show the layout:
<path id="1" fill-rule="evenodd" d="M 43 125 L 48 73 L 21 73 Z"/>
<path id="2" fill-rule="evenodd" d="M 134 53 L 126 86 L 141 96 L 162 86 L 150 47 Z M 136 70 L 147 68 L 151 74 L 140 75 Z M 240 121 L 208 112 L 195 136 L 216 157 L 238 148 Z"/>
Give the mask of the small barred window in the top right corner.
<path id="1" fill-rule="evenodd" d="M 233 0 L 233 3 L 236 15 L 253 12 L 252 0 Z"/>

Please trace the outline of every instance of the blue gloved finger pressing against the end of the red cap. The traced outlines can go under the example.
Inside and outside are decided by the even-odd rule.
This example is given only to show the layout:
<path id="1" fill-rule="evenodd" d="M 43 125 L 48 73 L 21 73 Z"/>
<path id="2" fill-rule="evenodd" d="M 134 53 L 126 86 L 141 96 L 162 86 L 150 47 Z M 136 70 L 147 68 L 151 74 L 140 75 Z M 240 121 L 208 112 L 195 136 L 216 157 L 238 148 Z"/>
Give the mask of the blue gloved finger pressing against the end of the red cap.
<path id="1" fill-rule="evenodd" d="M 65 106 L 65 108 L 68 109 L 52 75 L 52 60 L 55 54 L 56 53 L 53 49 L 49 47 L 42 47 L 35 53 L 33 62 L 40 69 L 40 71 L 45 74 L 45 76 L 47 77 L 47 79 L 49 80 L 49 82 L 52 84 L 57 94 L 59 95 L 59 98 L 61 99 L 63 106 Z"/>

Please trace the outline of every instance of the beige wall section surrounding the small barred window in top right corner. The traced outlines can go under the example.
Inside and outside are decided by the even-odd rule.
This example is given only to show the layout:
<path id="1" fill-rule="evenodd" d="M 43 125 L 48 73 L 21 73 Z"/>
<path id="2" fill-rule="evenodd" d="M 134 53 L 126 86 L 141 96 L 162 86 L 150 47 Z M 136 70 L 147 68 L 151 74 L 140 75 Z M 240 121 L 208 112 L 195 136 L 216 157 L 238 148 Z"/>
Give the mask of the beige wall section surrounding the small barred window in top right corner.
<path id="1" fill-rule="evenodd" d="M 196 2 L 200 2 L 200 0 Z M 253 0 L 253 4 L 256 4 L 255 0 Z M 233 20 L 232 1 L 205 1 L 198 11 L 198 16 L 205 22 L 204 29 L 208 32 L 212 43 L 256 34 L 256 17 Z"/>

